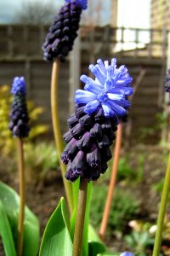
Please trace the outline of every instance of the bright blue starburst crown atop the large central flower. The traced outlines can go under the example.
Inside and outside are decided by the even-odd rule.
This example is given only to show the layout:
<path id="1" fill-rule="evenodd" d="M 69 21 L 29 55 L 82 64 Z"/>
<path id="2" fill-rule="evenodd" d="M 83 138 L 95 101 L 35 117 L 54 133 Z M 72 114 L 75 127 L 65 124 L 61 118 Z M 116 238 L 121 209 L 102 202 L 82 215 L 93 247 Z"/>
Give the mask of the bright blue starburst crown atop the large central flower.
<path id="1" fill-rule="evenodd" d="M 103 108 L 105 117 L 116 115 L 121 117 L 126 114 L 130 102 L 127 96 L 133 94 L 131 87 L 132 78 L 128 74 L 127 67 L 122 65 L 116 68 L 116 58 L 109 61 L 99 59 L 96 65 L 89 65 L 89 70 L 95 79 L 81 76 L 85 84 L 84 90 L 77 90 L 75 102 L 83 104 L 85 113 L 91 114 L 97 108 Z"/>

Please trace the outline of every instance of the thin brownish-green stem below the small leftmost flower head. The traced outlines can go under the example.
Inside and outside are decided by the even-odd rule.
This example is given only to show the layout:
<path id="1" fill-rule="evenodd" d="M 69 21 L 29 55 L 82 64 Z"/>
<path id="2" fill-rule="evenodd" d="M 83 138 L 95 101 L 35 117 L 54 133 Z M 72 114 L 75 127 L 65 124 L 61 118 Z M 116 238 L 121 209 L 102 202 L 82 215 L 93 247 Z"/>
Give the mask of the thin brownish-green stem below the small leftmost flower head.
<path id="1" fill-rule="evenodd" d="M 21 256 L 22 250 L 23 250 L 24 216 L 25 216 L 25 201 L 26 201 L 24 150 L 23 150 L 23 141 L 21 138 L 18 138 L 18 152 L 19 152 L 19 180 L 20 180 L 20 211 L 19 211 L 19 222 L 18 222 L 17 255 Z"/>

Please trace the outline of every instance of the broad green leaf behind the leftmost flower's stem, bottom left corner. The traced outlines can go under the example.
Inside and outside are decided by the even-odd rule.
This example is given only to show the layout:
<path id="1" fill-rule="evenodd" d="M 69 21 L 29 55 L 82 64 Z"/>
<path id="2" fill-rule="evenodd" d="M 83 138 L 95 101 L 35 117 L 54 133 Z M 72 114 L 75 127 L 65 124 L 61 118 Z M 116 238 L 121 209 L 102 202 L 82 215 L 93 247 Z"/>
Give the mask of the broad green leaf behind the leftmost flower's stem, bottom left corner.
<path id="1" fill-rule="evenodd" d="M 11 189 L 5 183 L 0 182 L 0 200 L 2 201 L 4 210 L 8 216 L 15 247 L 17 247 L 20 196 L 14 191 L 14 189 Z M 25 207 L 23 255 L 36 256 L 38 251 L 38 242 L 38 219 L 28 207 Z"/>

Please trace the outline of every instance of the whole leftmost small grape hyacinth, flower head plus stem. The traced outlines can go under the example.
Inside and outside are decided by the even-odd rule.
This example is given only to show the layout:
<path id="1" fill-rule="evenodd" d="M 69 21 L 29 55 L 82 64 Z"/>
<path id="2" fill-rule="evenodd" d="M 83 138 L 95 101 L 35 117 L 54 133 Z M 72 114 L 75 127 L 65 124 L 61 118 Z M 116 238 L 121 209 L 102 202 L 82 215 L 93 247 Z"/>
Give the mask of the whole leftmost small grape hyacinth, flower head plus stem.
<path id="1" fill-rule="evenodd" d="M 30 131 L 28 121 L 28 113 L 26 106 L 26 83 L 23 77 L 14 78 L 11 93 L 14 95 L 14 100 L 10 110 L 10 123 L 8 128 L 12 131 L 13 136 L 18 139 L 18 165 L 19 165 L 19 184 L 20 184 L 20 210 L 18 220 L 18 245 L 17 255 L 22 255 L 23 236 L 24 236 L 24 218 L 26 204 L 26 182 L 25 182 L 25 167 L 24 167 L 24 149 L 23 138 L 27 137 Z"/>

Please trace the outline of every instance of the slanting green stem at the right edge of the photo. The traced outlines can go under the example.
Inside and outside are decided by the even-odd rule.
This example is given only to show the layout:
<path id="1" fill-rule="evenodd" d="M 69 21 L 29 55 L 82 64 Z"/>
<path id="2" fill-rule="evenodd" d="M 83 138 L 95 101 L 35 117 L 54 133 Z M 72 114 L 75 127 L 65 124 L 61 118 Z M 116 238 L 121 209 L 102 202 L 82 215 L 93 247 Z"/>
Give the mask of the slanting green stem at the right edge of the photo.
<path id="1" fill-rule="evenodd" d="M 161 194 L 161 203 L 160 203 L 159 213 L 158 213 L 158 218 L 157 218 L 156 238 L 155 238 L 154 249 L 153 249 L 153 254 L 152 254 L 153 256 L 160 255 L 161 235 L 162 235 L 163 222 L 164 222 L 165 213 L 166 213 L 169 187 L 170 187 L 170 153 L 169 153 L 169 157 L 168 157 L 167 172 L 165 175 L 163 191 Z"/>

